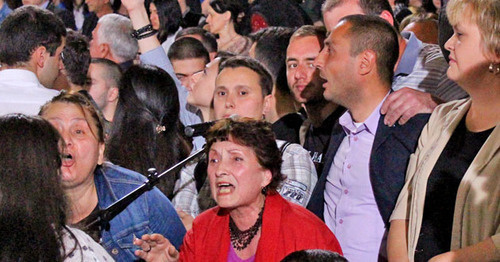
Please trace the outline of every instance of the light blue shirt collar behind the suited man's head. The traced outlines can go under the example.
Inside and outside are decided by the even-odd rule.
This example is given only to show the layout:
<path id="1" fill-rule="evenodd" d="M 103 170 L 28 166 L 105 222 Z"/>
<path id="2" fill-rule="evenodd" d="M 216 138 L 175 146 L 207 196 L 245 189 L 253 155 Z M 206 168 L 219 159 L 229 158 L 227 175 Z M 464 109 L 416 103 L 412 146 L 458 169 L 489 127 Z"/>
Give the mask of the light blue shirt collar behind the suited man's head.
<path id="1" fill-rule="evenodd" d="M 394 72 L 394 78 L 398 75 L 409 75 L 413 71 L 413 67 L 415 67 L 415 63 L 417 62 L 418 54 L 420 50 L 423 48 L 423 44 L 412 32 L 402 32 L 401 36 L 404 39 L 408 40 L 406 43 L 406 48 L 399 60 L 398 67 Z"/>

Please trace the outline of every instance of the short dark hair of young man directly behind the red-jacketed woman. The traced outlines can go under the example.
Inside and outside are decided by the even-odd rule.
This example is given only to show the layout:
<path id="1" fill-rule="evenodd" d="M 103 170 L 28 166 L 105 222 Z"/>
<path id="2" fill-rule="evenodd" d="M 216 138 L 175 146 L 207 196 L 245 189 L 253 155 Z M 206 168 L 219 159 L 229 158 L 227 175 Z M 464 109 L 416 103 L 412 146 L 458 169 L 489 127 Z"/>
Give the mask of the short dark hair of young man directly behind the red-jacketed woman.
<path id="1" fill-rule="evenodd" d="M 245 67 L 252 71 L 254 71 L 257 75 L 259 75 L 260 87 L 262 88 L 262 96 L 267 96 L 271 94 L 273 91 L 273 77 L 271 73 L 263 66 L 259 61 L 244 56 L 235 56 L 227 59 L 219 65 L 219 74 L 225 68 L 239 68 Z"/>

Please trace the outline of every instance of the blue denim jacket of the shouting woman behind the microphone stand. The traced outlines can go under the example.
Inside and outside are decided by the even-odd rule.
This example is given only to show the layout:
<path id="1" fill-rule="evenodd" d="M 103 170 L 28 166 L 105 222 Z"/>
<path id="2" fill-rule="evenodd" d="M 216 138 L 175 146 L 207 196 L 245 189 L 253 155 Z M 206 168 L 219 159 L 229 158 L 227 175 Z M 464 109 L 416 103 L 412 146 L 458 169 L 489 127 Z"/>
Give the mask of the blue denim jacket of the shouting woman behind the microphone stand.
<path id="1" fill-rule="evenodd" d="M 99 208 L 105 209 L 118 199 L 132 192 L 147 179 L 139 173 L 109 162 L 97 167 L 94 181 Z M 134 235 L 159 233 L 170 240 L 179 250 L 186 234 L 170 200 L 157 188 L 144 193 L 124 211 L 110 221 L 110 230 L 102 231 L 101 245 L 116 261 L 134 261 Z"/>

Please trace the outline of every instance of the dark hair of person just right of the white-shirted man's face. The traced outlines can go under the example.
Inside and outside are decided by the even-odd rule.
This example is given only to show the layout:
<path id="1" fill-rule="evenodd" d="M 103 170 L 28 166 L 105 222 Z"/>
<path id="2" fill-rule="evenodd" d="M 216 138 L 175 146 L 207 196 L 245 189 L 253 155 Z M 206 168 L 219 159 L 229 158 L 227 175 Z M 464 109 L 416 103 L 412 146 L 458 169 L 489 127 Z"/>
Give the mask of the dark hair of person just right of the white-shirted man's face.
<path id="1" fill-rule="evenodd" d="M 66 45 L 61 53 L 61 60 L 67 73 L 68 81 L 75 85 L 90 84 L 88 71 L 90 65 L 90 51 L 87 38 L 81 33 L 68 30 Z"/>

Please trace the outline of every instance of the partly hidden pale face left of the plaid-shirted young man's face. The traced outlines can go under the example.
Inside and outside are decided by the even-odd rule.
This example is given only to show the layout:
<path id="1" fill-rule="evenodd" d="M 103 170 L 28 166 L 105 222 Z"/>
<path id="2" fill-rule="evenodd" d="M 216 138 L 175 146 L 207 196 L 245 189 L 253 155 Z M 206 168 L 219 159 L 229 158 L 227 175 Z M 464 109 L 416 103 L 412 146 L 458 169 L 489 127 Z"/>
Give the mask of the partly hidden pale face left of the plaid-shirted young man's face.
<path id="1" fill-rule="evenodd" d="M 196 107 L 210 108 L 214 97 L 215 78 L 219 70 L 219 61 L 219 58 L 214 59 L 205 66 L 205 70 L 193 75 L 195 79 L 193 82 L 195 83 L 188 89 L 187 102 L 189 104 Z"/>

